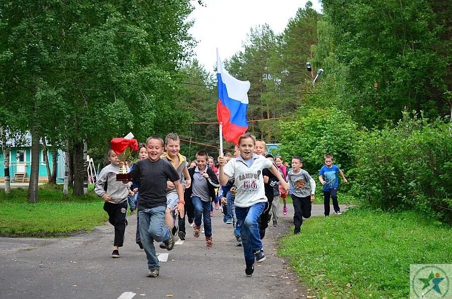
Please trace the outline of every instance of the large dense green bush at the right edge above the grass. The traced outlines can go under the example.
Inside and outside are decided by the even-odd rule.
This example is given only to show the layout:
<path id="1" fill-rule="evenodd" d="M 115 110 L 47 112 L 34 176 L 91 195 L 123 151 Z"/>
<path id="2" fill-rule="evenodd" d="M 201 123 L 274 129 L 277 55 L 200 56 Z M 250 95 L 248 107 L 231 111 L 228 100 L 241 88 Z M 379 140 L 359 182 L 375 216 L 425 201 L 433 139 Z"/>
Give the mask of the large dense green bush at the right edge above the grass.
<path id="1" fill-rule="evenodd" d="M 354 191 L 385 210 L 415 209 L 452 220 L 452 130 L 404 112 L 397 125 L 363 134 Z"/>

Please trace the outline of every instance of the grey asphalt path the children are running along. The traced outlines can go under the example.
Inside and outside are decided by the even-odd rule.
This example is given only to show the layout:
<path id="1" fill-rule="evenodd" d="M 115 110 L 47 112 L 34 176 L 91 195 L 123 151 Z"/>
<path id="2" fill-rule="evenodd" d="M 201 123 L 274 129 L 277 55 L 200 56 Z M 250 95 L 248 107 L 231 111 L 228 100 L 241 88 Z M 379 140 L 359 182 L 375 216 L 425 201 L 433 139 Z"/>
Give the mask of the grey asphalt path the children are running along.
<path id="1" fill-rule="evenodd" d="M 220 211 L 212 218 L 213 248 L 202 236 L 194 238 L 189 226 L 187 240 L 172 251 L 157 244 L 162 260 L 157 278 L 146 277 L 146 255 L 134 239 L 135 215 L 129 217 L 117 259 L 110 257 L 114 232 L 109 224 L 69 238 L 0 238 L 0 298 L 305 298 L 306 289 L 276 251 L 276 240 L 291 227 L 288 207 L 279 225 L 268 228 L 268 258 L 251 278 L 245 275 L 242 247 L 234 246 L 232 225 L 223 223 Z M 313 206 L 313 215 L 322 212 L 322 205 Z"/>

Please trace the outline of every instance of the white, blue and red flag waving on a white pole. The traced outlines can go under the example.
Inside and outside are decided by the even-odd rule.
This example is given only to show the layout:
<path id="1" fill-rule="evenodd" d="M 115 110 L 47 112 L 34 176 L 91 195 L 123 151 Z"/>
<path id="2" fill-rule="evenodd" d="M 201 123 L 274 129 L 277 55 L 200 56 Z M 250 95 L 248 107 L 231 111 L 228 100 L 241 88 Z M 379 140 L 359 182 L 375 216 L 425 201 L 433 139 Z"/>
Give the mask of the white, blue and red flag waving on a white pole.
<path id="1" fill-rule="evenodd" d="M 248 90 L 250 81 L 240 81 L 223 69 L 216 52 L 218 71 L 218 103 L 216 117 L 222 125 L 224 139 L 237 144 L 239 137 L 248 130 Z"/>

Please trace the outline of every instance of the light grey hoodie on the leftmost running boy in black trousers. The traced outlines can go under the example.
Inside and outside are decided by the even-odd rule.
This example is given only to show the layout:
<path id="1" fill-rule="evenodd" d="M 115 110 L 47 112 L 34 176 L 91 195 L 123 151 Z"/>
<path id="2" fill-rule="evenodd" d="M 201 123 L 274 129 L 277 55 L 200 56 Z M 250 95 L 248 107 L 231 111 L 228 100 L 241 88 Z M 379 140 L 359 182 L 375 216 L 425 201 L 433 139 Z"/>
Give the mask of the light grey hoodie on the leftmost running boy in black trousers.
<path id="1" fill-rule="evenodd" d="M 116 181 L 116 175 L 119 173 L 119 166 L 110 164 L 102 168 L 99 177 L 97 178 L 94 192 L 102 197 L 107 193 L 111 199 L 110 202 L 122 203 L 127 200 L 129 195 L 130 183 L 124 184 L 123 182 Z M 105 192 L 105 182 L 107 182 L 107 191 Z"/>

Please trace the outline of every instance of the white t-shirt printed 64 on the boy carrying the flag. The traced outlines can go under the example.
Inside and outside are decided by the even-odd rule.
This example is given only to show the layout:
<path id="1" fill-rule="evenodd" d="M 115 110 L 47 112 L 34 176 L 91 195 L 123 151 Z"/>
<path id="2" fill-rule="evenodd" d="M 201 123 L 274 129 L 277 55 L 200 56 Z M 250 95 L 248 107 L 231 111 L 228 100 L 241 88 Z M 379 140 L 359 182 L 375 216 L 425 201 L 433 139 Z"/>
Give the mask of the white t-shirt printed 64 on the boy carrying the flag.
<path id="1" fill-rule="evenodd" d="M 262 170 L 271 168 L 273 163 L 256 154 L 253 154 L 251 159 L 253 163 L 250 167 L 248 167 L 241 156 L 232 159 L 224 166 L 224 174 L 235 179 L 234 184 L 237 187 L 235 205 L 241 208 L 267 202 Z"/>

